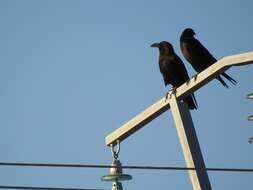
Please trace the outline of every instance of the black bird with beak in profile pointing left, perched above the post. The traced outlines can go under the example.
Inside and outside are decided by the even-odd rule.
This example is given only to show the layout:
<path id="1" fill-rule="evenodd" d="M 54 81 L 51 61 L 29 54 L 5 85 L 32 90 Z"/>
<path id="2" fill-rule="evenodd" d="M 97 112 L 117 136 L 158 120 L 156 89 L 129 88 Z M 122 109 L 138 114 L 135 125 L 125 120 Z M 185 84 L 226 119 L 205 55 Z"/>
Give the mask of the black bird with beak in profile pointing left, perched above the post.
<path id="1" fill-rule="evenodd" d="M 173 91 L 175 91 L 177 87 L 189 80 L 184 63 L 174 52 L 169 42 L 162 41 L 160 43 L 154 43 L 151 47 L 159 48 L 159 68 L 165 86 L 171 84 L 174 89 Z M 197 101 L 194 94 L 190 94 L 183 101 L 188 104 L 189 109 L 197 109 Z"/>

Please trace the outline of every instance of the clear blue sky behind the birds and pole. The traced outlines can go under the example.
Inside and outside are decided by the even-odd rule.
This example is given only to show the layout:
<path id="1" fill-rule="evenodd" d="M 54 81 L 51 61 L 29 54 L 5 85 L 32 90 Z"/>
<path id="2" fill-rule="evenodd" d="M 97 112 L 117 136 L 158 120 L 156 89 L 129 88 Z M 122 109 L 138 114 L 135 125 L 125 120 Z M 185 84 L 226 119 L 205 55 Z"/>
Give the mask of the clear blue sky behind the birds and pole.
<path id="1" fill-rule="evenodd" d="M 110 164 L 104 138 L 164 96 L 153 42 L 192 27 L 218 58 L 253 50 L 252 1 L 0 1 L 0 161 Z M 183 59 L 184 60 L 184 59 Z M 194 71 L 184 60 L 190 75 Z M 212 81 L 192 112 L 207 167 L 253 168 L 253 66 Z M 170 111 L 122 143 L 127 165 L 185 166 Z M 1 167 L 0 185 L 107 188 L 107 169 Z M 191 189 L 187 172 L 126 170 L 125 189 Z M 215 190 L 251 173 L 209 172 Z"/>

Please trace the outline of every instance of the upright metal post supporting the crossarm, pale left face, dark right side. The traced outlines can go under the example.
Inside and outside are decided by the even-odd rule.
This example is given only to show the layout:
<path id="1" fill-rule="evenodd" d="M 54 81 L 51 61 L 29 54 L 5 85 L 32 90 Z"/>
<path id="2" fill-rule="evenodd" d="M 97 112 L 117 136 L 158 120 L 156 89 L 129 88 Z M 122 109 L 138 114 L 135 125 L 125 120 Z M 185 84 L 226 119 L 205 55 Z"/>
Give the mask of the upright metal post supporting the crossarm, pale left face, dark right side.
<path id="1" fill-rule="evenodd" d="M 188 170 L 193 189 L 211 190 L 211 184 L 205 169 L 204 159 L 188 106 L 178 101 L 176 95 L 173 93 L 170 99 L 170 109 L 183 149 L 186 165 L 189 168 L 196 168 L 196 170 Z"/>

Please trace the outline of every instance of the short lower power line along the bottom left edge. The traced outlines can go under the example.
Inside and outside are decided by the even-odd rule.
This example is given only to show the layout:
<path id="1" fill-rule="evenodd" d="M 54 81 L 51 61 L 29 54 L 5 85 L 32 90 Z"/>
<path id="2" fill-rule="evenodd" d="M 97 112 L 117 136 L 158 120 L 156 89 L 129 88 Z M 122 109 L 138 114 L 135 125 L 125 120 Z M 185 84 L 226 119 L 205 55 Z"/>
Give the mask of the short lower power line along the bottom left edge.
<path id="1" fill-rule="evenodd" d="M 31 190 L 105 190 L 105 189 L 82 189 L 82 188 L 63 188 L 63 187 L 27 187 L 27 186 L 4 186 L 0 189 L 31 189 Z"/>

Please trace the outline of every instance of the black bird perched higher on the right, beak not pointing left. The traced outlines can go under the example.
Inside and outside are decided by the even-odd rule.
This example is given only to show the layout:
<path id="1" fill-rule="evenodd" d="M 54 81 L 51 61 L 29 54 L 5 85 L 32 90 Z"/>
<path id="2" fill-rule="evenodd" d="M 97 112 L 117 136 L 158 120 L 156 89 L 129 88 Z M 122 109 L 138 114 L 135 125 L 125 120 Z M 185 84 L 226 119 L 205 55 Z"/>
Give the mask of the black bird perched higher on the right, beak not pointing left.
<path id="1" fill-rule="evenodd" d="M 194 38 L 195 32 L 191 28 L 186 28 L 180 37 L 180 48 L 185 59 L 192 65 L 192 67 L 200 73 L 205 70 L 217 60 L 212 54 L 196 39 Z M 225 72 L 221 73 L 223 77 L 229 80 L 232 84 L 236 84 L 236 80 L 230 77 Z M 228 85 L 221 78 L 220 75 L 216 77 L 221 84 L 228 88 Z"/>

